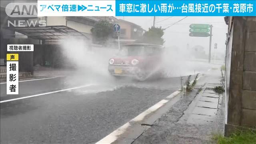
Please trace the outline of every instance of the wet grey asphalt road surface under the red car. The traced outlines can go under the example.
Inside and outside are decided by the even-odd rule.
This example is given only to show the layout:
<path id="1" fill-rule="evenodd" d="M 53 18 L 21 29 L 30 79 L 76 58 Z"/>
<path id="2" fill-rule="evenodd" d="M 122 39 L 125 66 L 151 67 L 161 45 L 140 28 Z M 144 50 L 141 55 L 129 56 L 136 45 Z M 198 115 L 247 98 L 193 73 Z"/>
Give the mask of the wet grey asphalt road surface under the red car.
<path id="1" fill-rule="evenodd" d="M 69 80 L 76 80 L 72 83 Z M 91 83 L 91 82 L 90 82 Z M 79 77 L 20 82 L 19 95 L 1 101 L 89 84 Z M 180 78 L 145 82 L 114 80 L 75 90 L 3 102 L 1 140 L 4 143 L 95 143 L 150 106 L 180 88 Z"/>

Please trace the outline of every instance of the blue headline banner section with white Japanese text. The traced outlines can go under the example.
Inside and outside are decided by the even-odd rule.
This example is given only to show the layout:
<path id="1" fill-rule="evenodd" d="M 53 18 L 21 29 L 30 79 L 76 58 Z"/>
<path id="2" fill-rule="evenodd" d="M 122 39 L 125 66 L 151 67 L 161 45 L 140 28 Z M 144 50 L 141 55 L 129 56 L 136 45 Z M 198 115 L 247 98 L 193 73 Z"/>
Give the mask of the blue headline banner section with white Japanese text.
<path id="1" fill-rule="evenodd" d="M 256 16 L 255 0 L 116 0 L 116 16 Z"/>

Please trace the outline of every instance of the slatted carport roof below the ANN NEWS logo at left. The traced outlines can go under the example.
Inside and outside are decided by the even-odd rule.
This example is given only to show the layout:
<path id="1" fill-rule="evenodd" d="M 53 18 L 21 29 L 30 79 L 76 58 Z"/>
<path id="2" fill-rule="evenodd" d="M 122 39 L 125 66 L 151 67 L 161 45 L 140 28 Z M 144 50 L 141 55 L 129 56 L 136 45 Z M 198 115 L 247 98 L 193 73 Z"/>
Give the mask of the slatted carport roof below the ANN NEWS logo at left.
<path id="1" fill-rule="evenodd" d="M 89 39 L 82 32 L 68 26 L 14 27 L 15 32 L 38 40 L 61 40 L 67 38 Z"/>

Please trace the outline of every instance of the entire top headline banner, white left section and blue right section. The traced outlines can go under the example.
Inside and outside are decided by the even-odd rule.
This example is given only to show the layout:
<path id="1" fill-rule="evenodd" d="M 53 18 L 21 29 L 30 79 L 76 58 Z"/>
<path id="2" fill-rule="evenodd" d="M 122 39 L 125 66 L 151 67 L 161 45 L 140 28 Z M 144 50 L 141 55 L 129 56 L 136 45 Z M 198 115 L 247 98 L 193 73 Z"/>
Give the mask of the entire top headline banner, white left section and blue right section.
<path id="1" fill-rule="evenodd" d="M 38 0 L 38 16 L 256 16 L 255 0 Z"/>

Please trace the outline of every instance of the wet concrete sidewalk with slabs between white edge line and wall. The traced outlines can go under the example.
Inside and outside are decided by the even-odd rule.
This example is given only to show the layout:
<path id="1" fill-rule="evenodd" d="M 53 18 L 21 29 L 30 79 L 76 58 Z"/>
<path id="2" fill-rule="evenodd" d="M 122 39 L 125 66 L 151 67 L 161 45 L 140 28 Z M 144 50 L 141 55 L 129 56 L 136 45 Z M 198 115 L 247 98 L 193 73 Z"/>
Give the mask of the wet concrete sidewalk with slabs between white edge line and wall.
<path id="1" fill-rule="evenodd" d="M 224 133 L 224 96 L 213 91 L 220 79 L 219 69 L 209 71 L 133 144 L 215 143 L 212 136 Z"/>

